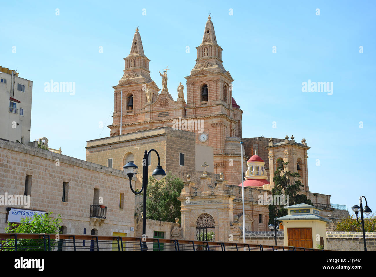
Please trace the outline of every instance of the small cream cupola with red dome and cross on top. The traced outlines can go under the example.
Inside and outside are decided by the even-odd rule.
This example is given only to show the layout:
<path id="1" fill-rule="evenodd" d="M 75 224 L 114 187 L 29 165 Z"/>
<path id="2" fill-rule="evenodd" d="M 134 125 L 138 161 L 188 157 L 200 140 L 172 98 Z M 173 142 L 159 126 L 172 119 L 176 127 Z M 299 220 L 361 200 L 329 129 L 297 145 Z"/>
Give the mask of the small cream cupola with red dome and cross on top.
<path id="1" fill-rule="evenodd" d="M 244 179 L 244 187 L 262 187 L 269 184 L 265 162 L 260 156 L 255 154 L 249 158 L 247 161 L 246 177 Z M 239 186 L 242 186 L 242 184 L 240 183 Z"/>

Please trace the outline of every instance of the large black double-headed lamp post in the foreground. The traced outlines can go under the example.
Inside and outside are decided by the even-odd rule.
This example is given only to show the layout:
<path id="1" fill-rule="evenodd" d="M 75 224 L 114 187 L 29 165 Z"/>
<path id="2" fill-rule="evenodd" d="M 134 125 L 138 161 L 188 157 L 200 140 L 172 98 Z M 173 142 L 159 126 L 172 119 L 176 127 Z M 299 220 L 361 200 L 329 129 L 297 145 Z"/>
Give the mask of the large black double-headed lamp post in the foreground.
<path id="1" fill-rule="evenodd" d="M 146 186 L 147 186 L 148 167 L 149 167 L 149 164 L 148 164 L 149 159 L 148 158 L 149 158 L 150 152 L 152 152 L 152 151 L 154 151 L 158 156 L 158 166 L 156 167 L 156 169 L 154 169 L 152 176 L 154 178 L 156 178 L 157 180 L 161 180 L 163 177 L 166 176 L 166 172 L 162 169 L 161 159 L 159 158 L 158 152 L 154 149 L 149 150 L 149 152 L 147 152 L 145 150 L 144 159 L 142 161 L 142 163 L 143 163 L 143 166 L 142 166 L 142 170 L 143 170 L 143 172 L 142 172 L 142 174 L 143 174 L 143 176 L 142 176 L 142 188 L 139 192 L 135 192 L 132 188 L 132 177 L 133 177 L 133 175 L 137 174 L 136 171 L 138 169 L 138 166 L 136 166 L 134 163 L 131 163 L 131 162 L 129 162 L 125 166 L 123 166 L 124 172 L 129 177 L 129 187 L 132 190 L 132 192 L 134 194 L 140 194 L 144 190 L 142 233 L 143 233 L 143 237 L 145 237 L 145 238 L 146 238 Z M 143 248 L 143 251 L 147 251 L 146 242 L 142 243 L 142 248 Z"/>

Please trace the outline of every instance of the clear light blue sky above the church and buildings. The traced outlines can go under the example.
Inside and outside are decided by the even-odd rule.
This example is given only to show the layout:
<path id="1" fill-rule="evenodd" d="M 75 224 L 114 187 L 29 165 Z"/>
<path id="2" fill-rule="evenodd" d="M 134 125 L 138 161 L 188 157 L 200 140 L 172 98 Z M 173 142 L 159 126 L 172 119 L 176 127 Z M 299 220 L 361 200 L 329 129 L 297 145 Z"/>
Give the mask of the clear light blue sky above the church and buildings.
<path id="1" fill-rule="evenodd" d="M 158 71 L 168 65 L 176 99 L 210 11 L 223 65 L 235 79 L 233 97 L 244 110 L 243 137 L 305 137 L 310 190 L 348 209 L 365 195 L 376 211 L 375 3 L 8 1 L 0 65 L 33 81 L 30 140 L 45 136 L 50 147 L 85 160 L 86 140 L 109 136 L 99 122 L 112 123 L 112 86 L 123 76 L 136 25 L 152 79 L 159 85 Z M 45 93 L 51 79 L 75 82 L 75 94 Z M 302 92 L 309 79 L 333 82 L 333 94 Z"/>

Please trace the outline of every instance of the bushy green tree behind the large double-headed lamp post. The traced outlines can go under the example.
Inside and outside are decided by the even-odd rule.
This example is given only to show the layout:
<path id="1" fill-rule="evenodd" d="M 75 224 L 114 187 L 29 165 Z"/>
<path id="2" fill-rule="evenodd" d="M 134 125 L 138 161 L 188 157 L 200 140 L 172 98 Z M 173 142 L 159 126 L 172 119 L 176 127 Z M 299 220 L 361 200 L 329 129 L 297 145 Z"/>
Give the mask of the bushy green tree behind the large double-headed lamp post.
<path id="1" fill-rule="evenodd" d="M 184 187 L 183 181 L 168 172 L 162 180 L 149 176 L 146 198 L 146 218 L 174 222 L 181 219 L 180 192 Z"/>

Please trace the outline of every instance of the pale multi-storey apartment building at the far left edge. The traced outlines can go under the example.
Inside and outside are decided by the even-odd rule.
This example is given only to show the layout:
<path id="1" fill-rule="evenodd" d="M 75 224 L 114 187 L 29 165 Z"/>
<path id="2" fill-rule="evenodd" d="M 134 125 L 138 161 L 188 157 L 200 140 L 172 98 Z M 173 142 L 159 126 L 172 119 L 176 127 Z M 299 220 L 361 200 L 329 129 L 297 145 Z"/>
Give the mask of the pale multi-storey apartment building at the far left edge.
<path id="1" fill-rule="evenodd" d="M 0 66 L 0 138 L 30 142 L 33 82 Z"/>

